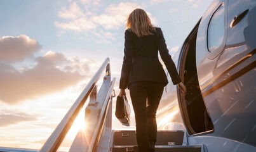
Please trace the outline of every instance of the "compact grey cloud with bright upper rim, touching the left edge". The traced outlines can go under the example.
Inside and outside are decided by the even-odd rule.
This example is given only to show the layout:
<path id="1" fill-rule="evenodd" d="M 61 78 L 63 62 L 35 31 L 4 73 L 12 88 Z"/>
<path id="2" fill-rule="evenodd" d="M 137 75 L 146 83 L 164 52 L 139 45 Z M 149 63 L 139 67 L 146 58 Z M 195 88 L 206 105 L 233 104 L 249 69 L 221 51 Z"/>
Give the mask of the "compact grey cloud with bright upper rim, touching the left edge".
<path id="1" fill-rule="evenodd" d="M 0 61 L 6 63 L 23 61 L 25 58 L 31 58 L 39 49 L 41 49 L 39 43 L 27 35 L 4 36 L 0 39 Z"/>

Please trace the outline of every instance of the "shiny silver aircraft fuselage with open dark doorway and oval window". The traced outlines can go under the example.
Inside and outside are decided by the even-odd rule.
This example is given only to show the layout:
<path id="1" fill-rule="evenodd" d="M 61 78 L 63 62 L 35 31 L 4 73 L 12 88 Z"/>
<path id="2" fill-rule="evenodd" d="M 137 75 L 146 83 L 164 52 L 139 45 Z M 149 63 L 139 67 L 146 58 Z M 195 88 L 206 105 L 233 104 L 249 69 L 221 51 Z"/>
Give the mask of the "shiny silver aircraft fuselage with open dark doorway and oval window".
<path id="1" fill-rule="evenodd" d="M 256 151 L 256 1 L 213 1 L 179 53 L 187 94 L 168 84 L 163 100 L 178 102 L 188 144 Z M 182 126 L 179 120 L 163 128 Z"/>

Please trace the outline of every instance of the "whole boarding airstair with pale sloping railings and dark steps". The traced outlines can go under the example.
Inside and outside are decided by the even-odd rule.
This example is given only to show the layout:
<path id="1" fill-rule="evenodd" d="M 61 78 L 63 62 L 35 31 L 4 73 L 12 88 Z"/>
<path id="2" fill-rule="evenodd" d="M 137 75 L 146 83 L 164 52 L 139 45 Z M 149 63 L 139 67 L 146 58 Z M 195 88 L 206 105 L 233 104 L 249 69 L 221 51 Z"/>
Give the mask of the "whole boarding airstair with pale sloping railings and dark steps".
<path id="1" fill-rule="evenodd" d="M 104 71 L 105 76 L 102 85 L 98 89 L 97 82 Z M 0 147 L 0 152 L 58 151 L 79 112 L 84 113 L 84 121 L 87 127 L 79 130 L 69 151 L 137 152 L 135 130 L 112 129 L 112 98 L 115 96 L 115 80 L 116 78 L 111 78 L 110 61 L 107 58 L 40 150 Z M 187 145 L 185 130 L 159 130 L 157 137 L 156 152 L 207 151 L 203 145 Z"/>

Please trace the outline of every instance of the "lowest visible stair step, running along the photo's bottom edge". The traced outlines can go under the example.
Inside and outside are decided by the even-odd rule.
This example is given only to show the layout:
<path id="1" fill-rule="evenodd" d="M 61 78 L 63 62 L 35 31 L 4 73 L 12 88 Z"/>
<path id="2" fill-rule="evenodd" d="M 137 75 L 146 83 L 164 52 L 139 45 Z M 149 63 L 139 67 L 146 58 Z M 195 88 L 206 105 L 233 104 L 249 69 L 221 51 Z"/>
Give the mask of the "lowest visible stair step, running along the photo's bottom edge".
<path id="1" fill-rule="evenodd" d="M 156 152 L 201 152 L 201 146 L 156 146 Z M 138 146 L 114 146 L 111 152 L 138 152 Z"/>

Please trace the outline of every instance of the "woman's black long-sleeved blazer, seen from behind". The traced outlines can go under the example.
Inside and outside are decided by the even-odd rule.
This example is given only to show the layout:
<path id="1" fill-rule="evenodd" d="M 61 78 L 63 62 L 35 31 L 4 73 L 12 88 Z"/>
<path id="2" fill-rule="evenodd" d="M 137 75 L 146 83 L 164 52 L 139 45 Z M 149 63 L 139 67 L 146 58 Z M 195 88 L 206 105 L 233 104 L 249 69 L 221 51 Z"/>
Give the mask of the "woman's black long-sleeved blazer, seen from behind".
<path id="1" fill-rule="evenodd" d="M 119 88 L 129 88 L 129 84 L 139 81 L 168 84 L 165 70 L 158 59 L 158 50 L 173 84 L 178 84 L 180 77 L 166 47 L 161 28 L 156 28 L 154 35 L 144 37 L 137 37 L 130 29 L 127 29 L 125 30 L 125 56 Z"/>

